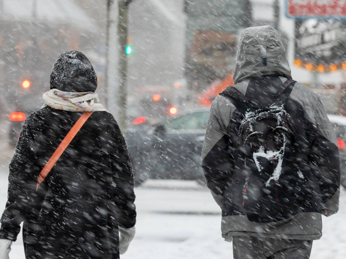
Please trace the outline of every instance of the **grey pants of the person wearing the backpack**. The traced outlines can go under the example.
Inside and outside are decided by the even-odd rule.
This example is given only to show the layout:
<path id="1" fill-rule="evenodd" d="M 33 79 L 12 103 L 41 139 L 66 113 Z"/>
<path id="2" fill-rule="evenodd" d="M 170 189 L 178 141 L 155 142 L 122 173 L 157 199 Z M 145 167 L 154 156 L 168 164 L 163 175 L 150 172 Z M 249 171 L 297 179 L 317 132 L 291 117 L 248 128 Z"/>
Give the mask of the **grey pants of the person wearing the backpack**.
<path id="1" fill-rule="evenodd" d="M 234 259 L 309 259 L 312 240 L 233 237 Z"/>

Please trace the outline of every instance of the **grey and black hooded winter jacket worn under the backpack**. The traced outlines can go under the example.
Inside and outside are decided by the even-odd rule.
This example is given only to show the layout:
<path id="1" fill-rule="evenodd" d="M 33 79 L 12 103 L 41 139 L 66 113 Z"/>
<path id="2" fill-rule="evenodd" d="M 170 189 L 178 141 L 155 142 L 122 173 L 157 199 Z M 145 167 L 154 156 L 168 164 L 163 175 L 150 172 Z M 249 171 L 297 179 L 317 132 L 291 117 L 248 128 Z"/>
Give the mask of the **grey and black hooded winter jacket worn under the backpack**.
<path id="1" fill-rule="evenodd" d="M 269 76 L 268 76 L 269 75 Z M 270 26 L 247 28 L 242 33 L 234 72 L 235 88 L 249 97 L 249 85 L 254 78 L 284 82 L 291 79 L 285 50 L 274 28 Z M 273 84 L 275 85 L 275 84 Z M 257 86 L 258 87 L 258 86 Z M 257 88 L 258 89 L 258 88 Z M 252 95 L 254 102 L 257 97 Z M 302 107 L 307 127 L 311 127 L 311 166 L 315 165 L 317 196 L 321 196 L 320 211 L 298 213 L 289 219 L 270 223 L 249 221 L 246 215 L 228 211 L 227 203 L 235 197 L 225 194 L 227 186 L 237 174 L 234 157 L 229 152 L 229 127 L 234 124 L 237 110 L 229 98 L 219 95 L 213 102 L 202 150 L 202 166 L 207 184 L 222 209 L 222 237 L 233 236 L 314 240 L 322 236 L 321 213 L 331 215 L 338 211 L 340 168 L 334 130 L 321 101 L 307 86 L 295 83 L 289 99 Z M 321 164 L 321 161 L 323 163 Z M 327 192 L 329 194 L 327 194 Z M 227 198 L 225 198 L 227 196 Z"/>

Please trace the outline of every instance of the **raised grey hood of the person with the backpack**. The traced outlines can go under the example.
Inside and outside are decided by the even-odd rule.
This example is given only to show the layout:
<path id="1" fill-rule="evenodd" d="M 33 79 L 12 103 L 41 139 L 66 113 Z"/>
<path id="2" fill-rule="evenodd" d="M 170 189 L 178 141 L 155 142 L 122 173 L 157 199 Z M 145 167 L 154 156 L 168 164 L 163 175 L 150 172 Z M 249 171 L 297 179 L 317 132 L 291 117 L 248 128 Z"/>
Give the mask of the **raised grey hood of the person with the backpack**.
<path id="1" fill-rule="evenodd" d="M 239 41 L 234 83 L 237 84 L 247 77 L 271 74 L 292 78 L 279 34 L 268 25 L 245 29 Z"/>

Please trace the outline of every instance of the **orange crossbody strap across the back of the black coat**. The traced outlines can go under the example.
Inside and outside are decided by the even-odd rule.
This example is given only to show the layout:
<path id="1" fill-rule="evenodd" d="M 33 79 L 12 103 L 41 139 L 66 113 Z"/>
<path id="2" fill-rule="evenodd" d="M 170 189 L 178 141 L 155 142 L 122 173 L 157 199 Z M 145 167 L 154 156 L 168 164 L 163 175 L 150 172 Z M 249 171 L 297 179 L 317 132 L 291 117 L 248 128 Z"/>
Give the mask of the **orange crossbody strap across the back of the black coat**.
<path id="1" fill-rule="evenodd" d="M 55 163 L 58 161 L 60 156 L 64 153 L 65 149 L 67 148 L 68 145 L 70 145 L 71 141 L 75 137 L 75 135 L 79 132 L 81 127 L 84 125 L 86 120 L 90 117 L 90 115 L 93 112 L 84 112 L 76 121 L 76 123 L 73 125 L 69 133 L 65 136 L 63 141 L 60 143 L 58 148 L 54 151 L 53 155 L 51 158 L 48 160 L 46 165 L 43 167 L 41 170 L 40 174 L 37 177 L 37 185 L 36 185 L 36 191 L 38 190 L 40 184 L 43 182 L 43 180 L 46 178 L 48 173 L 52 170 L 53 166 Z"/>

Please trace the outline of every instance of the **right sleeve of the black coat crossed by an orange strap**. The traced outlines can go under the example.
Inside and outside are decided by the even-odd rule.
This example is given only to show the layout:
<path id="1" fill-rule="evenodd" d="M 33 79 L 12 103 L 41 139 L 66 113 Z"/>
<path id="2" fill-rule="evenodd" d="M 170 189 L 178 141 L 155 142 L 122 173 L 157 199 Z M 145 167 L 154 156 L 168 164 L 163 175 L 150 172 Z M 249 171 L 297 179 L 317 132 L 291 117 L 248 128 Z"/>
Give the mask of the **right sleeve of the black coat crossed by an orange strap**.
<path id="1" fill-rule="evenodd" d="M 136 223 L 134 178 L 124 136 L 113 119 L 111 137 L 112 196 L 116 209 L 116 220 L 120 227 L 131 228 Z"/>

